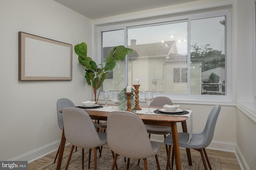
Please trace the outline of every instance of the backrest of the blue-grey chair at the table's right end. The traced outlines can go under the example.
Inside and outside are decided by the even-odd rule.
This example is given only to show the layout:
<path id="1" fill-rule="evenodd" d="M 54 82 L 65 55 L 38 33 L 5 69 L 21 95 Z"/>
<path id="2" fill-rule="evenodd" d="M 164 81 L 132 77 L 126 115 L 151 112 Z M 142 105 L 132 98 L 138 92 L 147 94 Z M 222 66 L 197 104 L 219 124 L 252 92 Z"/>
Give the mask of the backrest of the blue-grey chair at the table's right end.
<path id="1" fill-rule="evenodd" d="M 216 126 L 216 122 L 218 119 L 218 115 L 220 113 L 221 106 L 218 104 L 212 108 L 210 114 L 207 118 L 206 125 L 204 130 L 202 131 L 202 135 L 204 135 L 204 141 L 202 142 L 202 148 L 208 147 L 212 142 L 212 138 L 214 135 L 214 129 Z"/>

